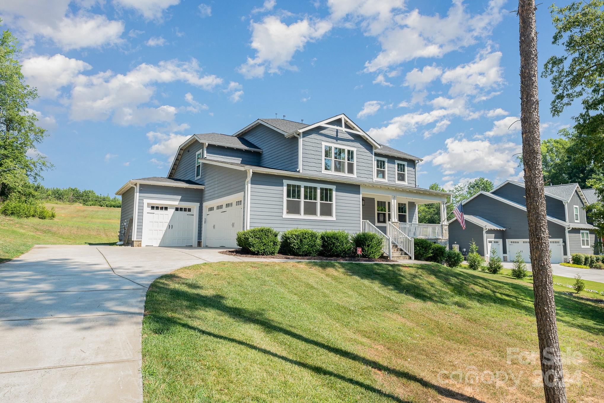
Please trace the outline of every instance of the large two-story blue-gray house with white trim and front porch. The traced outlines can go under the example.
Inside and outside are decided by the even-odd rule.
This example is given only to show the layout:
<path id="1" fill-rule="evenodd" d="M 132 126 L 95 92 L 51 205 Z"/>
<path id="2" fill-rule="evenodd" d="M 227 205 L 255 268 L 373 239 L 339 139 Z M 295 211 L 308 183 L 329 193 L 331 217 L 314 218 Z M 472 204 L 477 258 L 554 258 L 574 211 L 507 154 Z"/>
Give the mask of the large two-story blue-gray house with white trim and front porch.
<path id="1" fill-rule="evenodd" d="M 233 135 L 192 135 L 166 178 L 118 190 L 134 246 L 236 247 L 255 227 L 373 231 L 384 251 L 413 255 L 413 237 L 446 243 L 446 221 L 417 224 L 417 205 L 449 193 L 417 187 L 420 158 L 377 143 L 346 115 L 303 124 L 258 119 Z M 123 233 L 123 230 L 121 231 Z"/>

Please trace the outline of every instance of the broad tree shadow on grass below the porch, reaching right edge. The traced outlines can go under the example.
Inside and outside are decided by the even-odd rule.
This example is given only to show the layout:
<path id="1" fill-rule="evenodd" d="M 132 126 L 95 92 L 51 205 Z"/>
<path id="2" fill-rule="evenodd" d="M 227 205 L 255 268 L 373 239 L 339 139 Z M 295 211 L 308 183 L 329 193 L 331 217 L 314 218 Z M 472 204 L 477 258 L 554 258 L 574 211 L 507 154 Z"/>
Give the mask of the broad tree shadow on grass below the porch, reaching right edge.
<path id="1" fill-rule="evenodd" d="M 527 283 L 515 283 L 493 274 L 478 274 L 445 268 L 440 265 L 353 264 L 339 262 L 313 263 L 320 268 L 337 268 L 351 276 L 378 282 L 386 288 L 411 295 L 423 301 L 467 308 L 463 300 L 496 304 L 535 316 L 533 289 Z M 409 267 L 410 269 L 406 269 Z M 557 320 L 592 334 L 604 334 L 603 309 L 586 301 L 554 292 Z M 462 297 L 462 298 L 455 298 Z"/>

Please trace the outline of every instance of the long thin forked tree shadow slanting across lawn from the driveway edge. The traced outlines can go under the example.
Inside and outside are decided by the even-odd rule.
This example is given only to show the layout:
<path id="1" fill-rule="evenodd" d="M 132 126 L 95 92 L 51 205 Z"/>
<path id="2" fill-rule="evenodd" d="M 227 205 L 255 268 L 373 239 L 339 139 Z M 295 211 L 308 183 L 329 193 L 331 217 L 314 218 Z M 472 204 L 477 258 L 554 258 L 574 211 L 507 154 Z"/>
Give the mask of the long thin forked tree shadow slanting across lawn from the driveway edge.
<path id="1" fill-rule="evenodd" d="M 251 311 L 249 309 L 240 308 L 237 306 L 226 305 L 224 300 L 225 298 L 222 295 L 205 295 L 201 292 L 203 287 L 196 285 L 192 282 L 186 283 L 186 285 L 181 285 L 180 288 L 170 288 L 170 284 L 175 280 L 175 277 L 178 278 L 178 274 L 168 274 L 166 276 L 160 277 L 160 279 L 156 280 L 149 289 L 147 293 L 147 306 L 146 303 L 146 317 L 144 319 L 145 324 L 149 326 L 149 330 L 156 334 L 162 334 L 166 331 L 169 331 L 170 327 L 179 326 L 184 327 L 186 329 L 194 330 L 201 334 L 214 337 L 220 340 L 230 341 L 232 343 L 239 344 L 240 346 L 245 346 L 250 349 L 257 350 L 259 352 L 265 353 L 267 355 L 274 356 L 275 358 L 282 359 L 288 363 L 294 364 L 296 366 L 302 367 L 307 370 L 311 370 L 318 375 L 329 375 L 334 378 L 340 379 L 341 381 L 348 382 L 349 384 L 364 388 L 369 392 L 377 393 L 381 396 L 385 396 L 387 398 L 393 399 L 393 401 L 397 402 L 406 402 L 405 400 L 400 399 L 399 397 L 392 395 L 391 393 L 384 392 L 370 384 L 367 384 L 362 381 L 358 381 L 357 379 L 349 378 L 347 376 L 341 375 L 339 373 L 333 372 L 328 369 L 324 369 L 320 366 L 315 366 L 313 364 L 304 363 L 297 359 L 289 358 L 287 356 L 272 352 L 270 350 L 264 349 L 262 347 L 254 346 L 254 344 L 248 343 L 246 341 L 237 340 L 232 337 L 228 337 L 225 335 L 215 334 L 208 330 L 201 329 L 199 327 L 193 326 L 191 324 L 185 323 L 183 321 L 178 321 L 173 318 L 170 318 L 169 314 L 174 314 L 175 316 L 181 316 L 183 312 L 196 312 L 196 311 L 205 311 L 208 309 L 215 309 L 217 311 L 223 312 L 226 315 L 229 315 L 231 318 L 239 321 L 244 321 L 246 323 L 254 324 L 257 326 L 263 327 L 265 330 L 269 330 L 271 332 L 279 332 L 288 337 L 294 338 L 295 340 L 301 341 L 306 344 L 310 344 L 311 346 L 317 347 L 319 349 L 323 349 L 326 352 L 333 353 L 342 358 L 350 359 L 351 361 L 355 361 L 356 363 L 362 364 L 364 366 L 371 367 L 372 369 L 376 369 L 382 372 L 387 372 L 390 375 L 396 376 L 397 378 L 403 379 L 405 381 L 415 382 L 416 384 L 422 385 L 423 387 L 434 390 L 439 395 L 456 399 L 458 401 L 470 402 L 470 403 L 483 403 L 482 401 L 473 398 L 472 396 L 466 396 L 462 393 L 455 392 L 452 389 L 442 387 L 437 384 L 433 384 L 432 382 L 427 381 L 426 379 L 420 378 L 413 373 L 410 373 L 406 370 L 396 369 L 393 367 L 385 366 L 373 359 L 366 358 L 364 356 L 358 355 L 355 352 L 351 352 L 348 350 L 341 349 L 340 347 L 332 346 L 330 344 L 324 343 L 323 341 L 314 340 L 309 338 L 303 334 L 299 334 L 294 330 L 287 329 L 286 327 L 280 326 L 277 323 L 274 323 L 269 318 L 266 318 L 263 312 L 260 311 Z M 182 286 L 185 286 L 187 289 L 184 289 Z M 164 294 L 161 298 L 158 298 L 158 310 L 161 314 L 155 314 L 153 312 L 153 300 L 155 295 L 153 294 Z M 177 312 L 170 312 L 169 309 L 165 308 L 165 305 L 162 305 L 162 300 L 165 298 L 169 298 L 173 301 L 178 301 L 176 306 L 179 307 Z M 185 307 L 183 309 L 183 306 Z M 149 312 L 147 309 L 149 308 Z"/>

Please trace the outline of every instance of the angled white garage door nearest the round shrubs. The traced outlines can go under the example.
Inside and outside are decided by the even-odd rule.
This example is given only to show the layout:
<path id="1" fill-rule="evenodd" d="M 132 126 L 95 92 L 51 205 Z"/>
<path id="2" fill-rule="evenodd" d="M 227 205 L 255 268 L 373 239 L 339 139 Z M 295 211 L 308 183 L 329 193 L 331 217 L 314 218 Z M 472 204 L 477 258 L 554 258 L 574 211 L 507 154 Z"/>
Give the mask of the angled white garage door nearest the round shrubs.
<path id="1" fill-rule="evenodd" d="M 205 246 L 237 247 L 237 232 L 243 229 L 242 198 L 205 204 Z"/>

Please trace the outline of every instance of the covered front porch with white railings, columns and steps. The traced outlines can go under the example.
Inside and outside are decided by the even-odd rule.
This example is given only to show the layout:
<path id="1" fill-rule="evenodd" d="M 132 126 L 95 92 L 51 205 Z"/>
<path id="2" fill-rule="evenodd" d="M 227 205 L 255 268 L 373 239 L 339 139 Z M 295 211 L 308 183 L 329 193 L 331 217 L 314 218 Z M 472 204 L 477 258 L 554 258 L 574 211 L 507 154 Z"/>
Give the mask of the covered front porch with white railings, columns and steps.
<path id="1" fill-rule="evenodd" d="M 426 238 L 448 245 L 446 203 L 449 194 L 427 189 L 361 187 L 362 230 L 384 236 L 384 253 L 403 251 L 413 259 L 413 239 Z M 439 203 L 440 224 L 420 224 L 418 206 Z"/>

